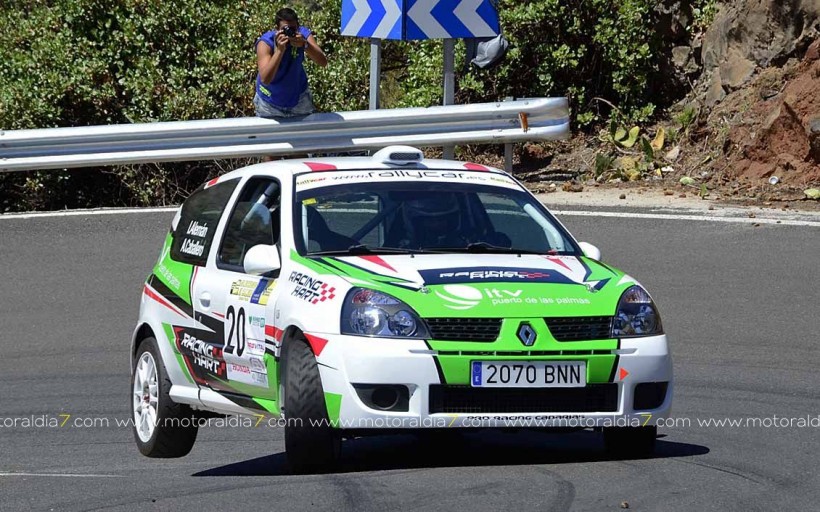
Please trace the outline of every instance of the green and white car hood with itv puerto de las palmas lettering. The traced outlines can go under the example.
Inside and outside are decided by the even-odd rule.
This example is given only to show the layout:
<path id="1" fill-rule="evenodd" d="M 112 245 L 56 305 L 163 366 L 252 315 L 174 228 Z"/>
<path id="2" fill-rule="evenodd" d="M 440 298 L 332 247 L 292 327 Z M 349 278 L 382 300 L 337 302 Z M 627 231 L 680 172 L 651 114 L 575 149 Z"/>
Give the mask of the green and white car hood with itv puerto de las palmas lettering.
<path id="1" fill-rule="evenodd" d="M 353 286 L 389 293 L 422 317 L 611 316 L 636 281 L 579 256 L 370 255 L 316 258 Z"/>

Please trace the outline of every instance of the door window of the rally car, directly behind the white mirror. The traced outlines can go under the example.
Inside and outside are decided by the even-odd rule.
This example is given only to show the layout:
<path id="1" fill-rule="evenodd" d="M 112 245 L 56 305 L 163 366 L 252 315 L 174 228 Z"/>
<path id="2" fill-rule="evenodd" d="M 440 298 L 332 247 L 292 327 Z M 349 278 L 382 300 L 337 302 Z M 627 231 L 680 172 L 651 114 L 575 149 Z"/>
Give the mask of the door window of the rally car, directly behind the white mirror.
<path id="1" fill-rule="evenodd" d="M 251 178 L 234 205 L 219 248 L 217 266 L 244 272 L 245 254 L 254 245 L 279 242 L 279 182 L 273 178 Z"/>

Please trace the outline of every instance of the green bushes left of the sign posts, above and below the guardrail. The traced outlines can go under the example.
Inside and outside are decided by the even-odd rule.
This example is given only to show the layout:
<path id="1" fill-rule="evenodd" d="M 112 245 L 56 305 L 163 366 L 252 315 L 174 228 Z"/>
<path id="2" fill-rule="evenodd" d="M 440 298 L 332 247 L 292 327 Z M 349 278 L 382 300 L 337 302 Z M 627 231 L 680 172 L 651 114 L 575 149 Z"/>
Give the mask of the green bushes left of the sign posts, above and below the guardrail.
<path id="1" fill-rule="evenodd" d="M 339 1 L 298 3 L 331 59 L 311 67 L 322 110 L 367 106 L 367 45 Z M 253 115 L 253 44 L 279 6 L 235 0 L 39 0 L 0 7 L 0 129 Z M 0 175 L 0 211 L 173 204 L 236 161 Z"/>

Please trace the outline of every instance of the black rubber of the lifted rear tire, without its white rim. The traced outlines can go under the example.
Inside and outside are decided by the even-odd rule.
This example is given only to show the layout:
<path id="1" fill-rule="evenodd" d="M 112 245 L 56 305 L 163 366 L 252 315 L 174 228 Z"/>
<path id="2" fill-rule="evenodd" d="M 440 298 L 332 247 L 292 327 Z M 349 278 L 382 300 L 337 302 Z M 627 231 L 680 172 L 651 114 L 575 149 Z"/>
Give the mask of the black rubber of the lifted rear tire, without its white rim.
<path id="1" fill-rule="evenodd" d="M 138 419 L 135 413 L 136 403 L 134 397 L 137 368 L 144 354 L 149 354 L 153 358 L 157 372 L 156 426 L 146 440 L 143 440 L 137 431 Z M 131 414 L 135 420 L 131 430 L 134 434 L 134 440 L 137 442 L 137 448 L 146 457 L 183 457 L 190 453 L 196 441 L 198 428 L 194 411 L 187 405 L 178 404 L 171 400 L 168 395 L 170 390 L 171 380 L 165 371 L 157 340 L 145 338 L 137 348 L 131 368 Z"/>

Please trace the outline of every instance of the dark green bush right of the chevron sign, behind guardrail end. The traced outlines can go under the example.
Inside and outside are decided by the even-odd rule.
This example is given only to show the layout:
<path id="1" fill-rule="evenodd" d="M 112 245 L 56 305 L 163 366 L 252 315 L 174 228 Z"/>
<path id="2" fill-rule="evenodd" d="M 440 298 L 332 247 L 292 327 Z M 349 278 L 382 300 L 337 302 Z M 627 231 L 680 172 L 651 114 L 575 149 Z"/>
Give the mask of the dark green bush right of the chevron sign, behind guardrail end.
<path id="1" fill-rule="evenodd" d="M 472 71 L 466 99 L 568 95 L 576 120 L 599 119 L 593 98 L 619 106 L 632 122 L 655 108 L 652 81 L 660 40 L 652 0 L 500 0 L 501 25 L 512 47 L 499 69 Z M 608 115 L 609 112 L 607 111 Z"/>

